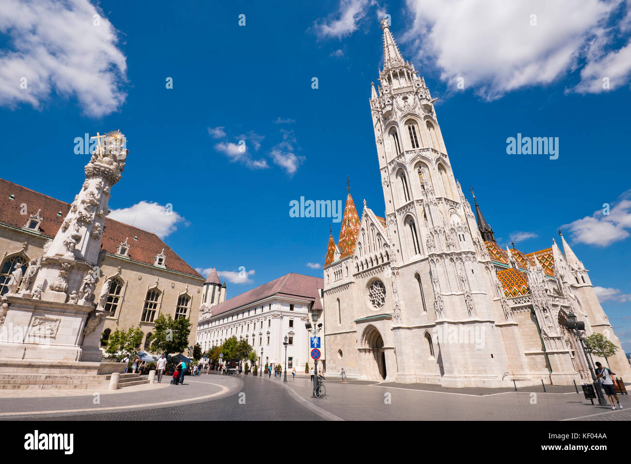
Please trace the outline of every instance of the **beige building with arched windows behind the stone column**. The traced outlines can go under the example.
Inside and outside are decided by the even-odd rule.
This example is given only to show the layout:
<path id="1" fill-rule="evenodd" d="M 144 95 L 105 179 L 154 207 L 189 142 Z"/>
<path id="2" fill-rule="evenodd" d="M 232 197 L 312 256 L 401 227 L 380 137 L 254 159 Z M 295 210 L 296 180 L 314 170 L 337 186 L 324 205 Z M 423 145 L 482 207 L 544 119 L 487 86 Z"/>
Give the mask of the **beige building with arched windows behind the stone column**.
<path id="1" fill-rule="evenodd" d="M 81 194 L 89 191 L 82 188 Z M 30 264 L 37 266 L 45 260 L 45 252 L 60 229 L 68 229 L 65 221 L 72 210 L 81 209 L 75 207 L 78 202 L 68 204 L 2 179 L 0 198 L 0 297 L 4 297 L 16 266 L 26 277 Z M 134 326 L 144 333 L 138 349 L 148 349 L 147 339 L 160 314 L 189 317 L 189 344 L 194 344 L 199 311 L 192 308 L 202 301 L 204 278 L 158 236 L 105 217 L 107 212 L 97 212 L 95 218 L 100 215 L 101 222 L 95 228 L 99 230 L 91 235 L 100 239 L 100 245 L 90 250 L 96 264 L 91 270 L 98 279 L 90 304 L 105 315 L 97 345 L 104 350 L 116 328 Z M 25 277 L 23 284 L 27 284 Z M 53 273 L 48 281 L 52 283 L 56 278 Z M 30 287 L 36 289 L 37 284 L 30 282 Z M 100 352 L 95 356 L 100 359 Z"/>

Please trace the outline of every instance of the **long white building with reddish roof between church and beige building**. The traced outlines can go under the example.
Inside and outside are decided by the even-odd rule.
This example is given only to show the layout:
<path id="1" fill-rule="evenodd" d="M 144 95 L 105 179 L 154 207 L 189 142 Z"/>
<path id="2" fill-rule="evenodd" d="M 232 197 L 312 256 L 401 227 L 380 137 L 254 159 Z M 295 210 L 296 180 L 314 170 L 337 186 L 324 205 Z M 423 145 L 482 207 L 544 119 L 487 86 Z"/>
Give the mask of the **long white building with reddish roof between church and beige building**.
<path id="1" fill-rule="evenodd" d="M 296 368 L 304 373 L 307 362 L 313 366 L 305 322 L 312 321 L 314 310 L 321 315 L 323 287 L 318 277 L 291 273 L 210 308 L 203 307 L 196 340 L 206 352 L 234 335 L 252 346 L 259 369 L 266 363 L 284 368 L 286 336 L 287 370 Z M 324 347 L 321 352 L 324 360 Z"/>

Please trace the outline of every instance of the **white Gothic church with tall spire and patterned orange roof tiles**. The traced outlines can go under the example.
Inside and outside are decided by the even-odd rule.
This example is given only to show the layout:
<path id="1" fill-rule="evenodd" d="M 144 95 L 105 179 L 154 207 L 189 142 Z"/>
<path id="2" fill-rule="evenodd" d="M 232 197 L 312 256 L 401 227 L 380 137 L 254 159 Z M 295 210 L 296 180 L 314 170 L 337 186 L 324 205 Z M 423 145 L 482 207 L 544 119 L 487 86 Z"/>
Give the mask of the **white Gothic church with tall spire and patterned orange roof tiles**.
<path id="1" fill-rule="evenodd" d="M 432 98 L 383 30 L 384 69 L 370 112 L 386 211 L 348 189 L 324 264 L 327 370 L 360 380 L 444 386 L 591 382 L 570 314 L 618 347 L 608 361 L 631 378 L 582 262 L 565 239 L 522 253 L 502 248 L 475 196 L 454 177 Z M 473 194 L 473 190 L 472 190 Z M 560 246 L 559 246 L 560 245 Z M 594 361 L 604 362 L 594 356 Z"/>

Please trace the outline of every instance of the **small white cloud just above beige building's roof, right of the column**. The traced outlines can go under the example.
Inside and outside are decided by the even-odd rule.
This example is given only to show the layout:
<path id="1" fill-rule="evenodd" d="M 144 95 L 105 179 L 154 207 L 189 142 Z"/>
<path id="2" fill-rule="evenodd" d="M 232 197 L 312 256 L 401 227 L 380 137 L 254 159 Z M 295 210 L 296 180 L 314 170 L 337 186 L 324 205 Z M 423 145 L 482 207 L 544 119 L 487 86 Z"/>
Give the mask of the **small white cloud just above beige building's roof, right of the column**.
<path id="1" fill-rule="evenodd" d="M 184 217 L 173 211 L 172 207 L 144 200 L 128 208 L 112 209 L 107 217 L 153 232 L 162 239 L 177 229 L 175 224 L 184 221 Z"/>

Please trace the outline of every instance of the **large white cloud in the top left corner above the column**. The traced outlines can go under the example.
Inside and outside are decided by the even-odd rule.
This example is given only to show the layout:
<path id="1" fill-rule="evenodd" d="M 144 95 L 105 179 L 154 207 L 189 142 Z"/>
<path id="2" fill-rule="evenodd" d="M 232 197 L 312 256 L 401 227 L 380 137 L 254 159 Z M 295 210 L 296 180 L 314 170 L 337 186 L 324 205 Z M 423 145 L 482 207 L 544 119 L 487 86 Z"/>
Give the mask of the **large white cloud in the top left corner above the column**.
<path id="1" fill-rule="evenodd" d="M 52 94 L 76 96 L 83 113 L 102 117 L 124 103 L 117 32 L 88 0 L 2 0 L 0 33 L 9 47 L 0 54 L 0 105 L 40 108 Z"/>

